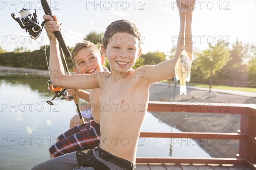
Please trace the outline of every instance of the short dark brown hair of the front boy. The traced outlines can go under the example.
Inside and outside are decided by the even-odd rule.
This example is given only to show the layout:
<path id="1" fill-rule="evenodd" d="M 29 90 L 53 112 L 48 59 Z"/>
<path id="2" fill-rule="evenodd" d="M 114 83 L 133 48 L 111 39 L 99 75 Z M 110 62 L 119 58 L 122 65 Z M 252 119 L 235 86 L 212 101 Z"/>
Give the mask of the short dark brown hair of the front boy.
<path id="1" fill-rule="evenodd" d="M 138 45 L 140 48 L 140 41 L 141 41 L 140 31 L 138 30 L 137 26 L 134 23 L 131 23 L 128 20 L 114 21 L 106 28 L 106 31 L 103 37 L 104 48 L 107 48 L 109 40 L 117 32 L 125 32 L 128 34 L 134 35 L 134 37 L 139 40 Z"/>

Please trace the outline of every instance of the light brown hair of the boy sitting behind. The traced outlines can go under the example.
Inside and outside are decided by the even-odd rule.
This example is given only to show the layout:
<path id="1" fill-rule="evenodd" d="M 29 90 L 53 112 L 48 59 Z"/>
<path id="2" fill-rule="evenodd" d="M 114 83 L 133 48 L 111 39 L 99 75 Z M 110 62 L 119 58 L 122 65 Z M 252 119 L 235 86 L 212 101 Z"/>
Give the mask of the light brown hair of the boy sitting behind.
<path id="1" fill-rule="evenodd" d="M 99 53 L 99 56 L 101 55 L 100 54 L 100 51 L 99 49 L 96 47 L 95 44 L 93 44 L 92 42 L 90 41 L 83 41 L 83 42 L 79 42 L 75 45 L 72 53 L 71 53 L 71 59 L 72 59 L 72 62 L 73 62 L 73 65 L 76 67 L 76 63 L 75 63 L 75 57 L 76 57 L 76 54 L 83 48 L 94 48 L 95 51 L 97 53 Z"/>

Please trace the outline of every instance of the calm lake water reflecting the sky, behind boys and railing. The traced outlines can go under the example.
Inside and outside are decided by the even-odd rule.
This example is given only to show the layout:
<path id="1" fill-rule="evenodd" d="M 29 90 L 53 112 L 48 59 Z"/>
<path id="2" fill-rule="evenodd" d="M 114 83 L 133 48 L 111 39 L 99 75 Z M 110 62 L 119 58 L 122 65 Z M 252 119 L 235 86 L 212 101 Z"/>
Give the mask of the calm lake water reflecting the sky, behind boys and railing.
<path id="1" fill-rule="evenodd" d="M 69 128 L 74 102 L 56 99 L 46 78 L 0 79 L 0 169 L 27 170 L 49 159 L 49 147 Z M 180 132 L 147 113 L 143 132 Z M 209 158 L 192 139 L 140 138 L 137 157 Z"/>

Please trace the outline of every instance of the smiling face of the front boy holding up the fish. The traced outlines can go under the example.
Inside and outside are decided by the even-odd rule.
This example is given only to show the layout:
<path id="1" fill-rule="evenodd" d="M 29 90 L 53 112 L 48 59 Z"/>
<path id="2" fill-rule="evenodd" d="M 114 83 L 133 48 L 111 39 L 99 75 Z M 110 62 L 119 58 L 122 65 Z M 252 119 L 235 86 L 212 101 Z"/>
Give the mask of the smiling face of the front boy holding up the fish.
<path id="1" fill-rule="evenodd" d="M 102 46 L 102 53 L 108 56 L 111 70 L 131 70 L 140 56 L 138 42 L 134 35 L 118 32 L 111 37 L 106 49 Z"/>

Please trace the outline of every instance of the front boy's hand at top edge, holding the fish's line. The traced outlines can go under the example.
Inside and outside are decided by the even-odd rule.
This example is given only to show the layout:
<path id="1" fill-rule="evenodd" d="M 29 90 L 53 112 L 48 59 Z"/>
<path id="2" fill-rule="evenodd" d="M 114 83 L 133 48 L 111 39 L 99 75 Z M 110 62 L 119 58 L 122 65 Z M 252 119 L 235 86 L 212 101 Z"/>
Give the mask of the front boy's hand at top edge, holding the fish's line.
<path id="1" fill-rule="evenodd" d="M 180 17 L 185 17 L 185 14 L 192 14 L 195 8 L 195 0 L 176 0 L 176 3 Z"/>

